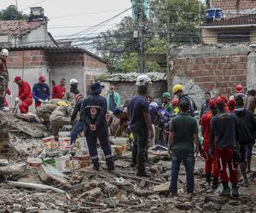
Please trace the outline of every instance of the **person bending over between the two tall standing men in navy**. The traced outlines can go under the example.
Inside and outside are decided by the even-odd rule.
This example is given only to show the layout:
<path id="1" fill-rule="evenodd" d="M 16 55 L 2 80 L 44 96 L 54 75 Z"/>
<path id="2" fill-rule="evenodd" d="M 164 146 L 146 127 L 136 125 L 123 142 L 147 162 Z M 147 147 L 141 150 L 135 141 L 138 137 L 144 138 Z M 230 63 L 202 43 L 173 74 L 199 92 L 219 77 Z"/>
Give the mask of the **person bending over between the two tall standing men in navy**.
<path id="1" fill-rule="evenodd" d="M 128 126 L 129 126 L 129 118 L 127 113 L 125 112 L 124 109 L 118 107 L 113 111 L 113 115 L 116 118 L 119 118 L 119 127 L 118 129 L 115 131 L 114 137 L 117 137 L 119 135 L 121 135 L 121 132 L 127 130 Z"/>

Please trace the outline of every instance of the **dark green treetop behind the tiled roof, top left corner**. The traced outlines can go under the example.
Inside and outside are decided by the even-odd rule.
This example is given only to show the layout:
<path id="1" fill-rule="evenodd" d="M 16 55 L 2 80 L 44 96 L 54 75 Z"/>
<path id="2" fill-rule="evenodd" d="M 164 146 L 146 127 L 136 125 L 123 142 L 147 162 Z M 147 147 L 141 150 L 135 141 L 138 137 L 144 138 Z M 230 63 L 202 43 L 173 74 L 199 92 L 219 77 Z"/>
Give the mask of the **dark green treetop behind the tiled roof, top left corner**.
<path id="1" fill-rule="evenodd" d="M 0 11 L 0 20 L 26 20 L 26 18 L 27 15 L 18 11 L 13 4 Z"/>

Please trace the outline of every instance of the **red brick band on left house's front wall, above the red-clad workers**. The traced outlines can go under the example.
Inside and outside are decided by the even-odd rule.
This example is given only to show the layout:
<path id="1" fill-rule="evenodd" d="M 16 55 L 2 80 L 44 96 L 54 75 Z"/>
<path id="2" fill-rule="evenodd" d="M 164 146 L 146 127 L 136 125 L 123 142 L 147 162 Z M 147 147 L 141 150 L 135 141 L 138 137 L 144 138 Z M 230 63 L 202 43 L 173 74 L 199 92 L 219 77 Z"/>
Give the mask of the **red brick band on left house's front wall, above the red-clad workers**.
<path id="1" fill-rule="evenodd" d="M 33 66 L 47 66 L 48 57 L 44 50 L 19 50 L 10 51 L 7 60 L 9 68 L 33 67 Z"/>

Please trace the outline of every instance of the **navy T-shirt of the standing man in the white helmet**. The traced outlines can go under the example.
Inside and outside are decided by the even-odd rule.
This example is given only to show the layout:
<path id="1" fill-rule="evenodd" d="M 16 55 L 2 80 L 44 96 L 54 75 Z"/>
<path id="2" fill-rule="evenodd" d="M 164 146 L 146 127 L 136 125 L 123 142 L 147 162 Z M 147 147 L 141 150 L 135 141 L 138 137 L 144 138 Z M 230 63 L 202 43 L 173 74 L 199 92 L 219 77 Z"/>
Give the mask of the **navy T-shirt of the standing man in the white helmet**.
<path id="1" fill-rule="evenodd" d="M 149 113 L 148 101 L 141 95 L 135 95 L 128 104 L 130 111 L 130 128 L 131 131 L 147 129 L 143 113 Z"/>

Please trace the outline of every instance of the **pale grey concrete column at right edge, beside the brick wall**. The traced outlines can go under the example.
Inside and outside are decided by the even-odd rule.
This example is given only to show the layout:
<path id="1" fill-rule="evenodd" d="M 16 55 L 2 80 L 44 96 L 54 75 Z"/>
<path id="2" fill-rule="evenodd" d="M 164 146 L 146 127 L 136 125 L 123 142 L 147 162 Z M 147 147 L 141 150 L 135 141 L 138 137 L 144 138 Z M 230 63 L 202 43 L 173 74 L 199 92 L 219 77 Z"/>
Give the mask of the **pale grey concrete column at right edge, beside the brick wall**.
<path id="1" fill-rule="evenodd" d="M 247 89 L 256 89 L 256 53 L 247 56 Z"/>

